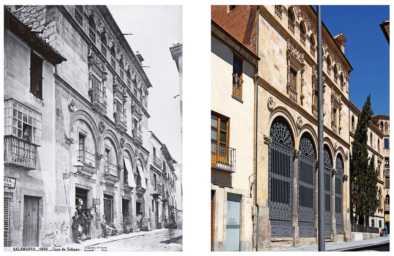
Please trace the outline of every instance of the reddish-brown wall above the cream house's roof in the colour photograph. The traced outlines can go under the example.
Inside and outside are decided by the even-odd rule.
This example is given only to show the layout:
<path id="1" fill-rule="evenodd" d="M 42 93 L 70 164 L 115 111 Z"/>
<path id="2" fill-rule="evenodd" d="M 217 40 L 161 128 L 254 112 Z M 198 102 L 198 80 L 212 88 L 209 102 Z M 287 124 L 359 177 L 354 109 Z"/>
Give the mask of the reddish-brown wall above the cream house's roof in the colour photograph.
<path id="1" fill-rule="evenodd" d="M 256 53 L 256 9 L 250 6 L 211 6 L 211 18 L 243 45 Z"/>

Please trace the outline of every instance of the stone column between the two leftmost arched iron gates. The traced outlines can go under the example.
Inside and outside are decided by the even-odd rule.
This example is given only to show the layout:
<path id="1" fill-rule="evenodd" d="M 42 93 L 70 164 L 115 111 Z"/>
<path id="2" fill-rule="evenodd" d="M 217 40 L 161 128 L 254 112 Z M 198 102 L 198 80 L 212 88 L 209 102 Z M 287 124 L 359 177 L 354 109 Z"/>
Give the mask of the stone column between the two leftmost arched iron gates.
<path id="1" fill-rule="evenodd" d="M 299 229 L 298 229 L 298 158 L 301 156 L 301 151 L 294 149 L 293 151 L 293 185 L 292 185 L 292 237 L 294 238 L 293 246 L 299 245 Z"/>

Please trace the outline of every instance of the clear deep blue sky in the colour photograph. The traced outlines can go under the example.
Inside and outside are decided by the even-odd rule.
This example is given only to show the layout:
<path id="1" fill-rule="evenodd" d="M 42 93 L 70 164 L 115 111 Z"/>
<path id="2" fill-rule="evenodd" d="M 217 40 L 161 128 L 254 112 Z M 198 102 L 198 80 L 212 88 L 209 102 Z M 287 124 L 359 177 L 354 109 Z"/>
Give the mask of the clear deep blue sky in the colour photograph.
<path id="1" fill-rule="evenodd" d="M 389 6 L 322 6 L 331 35 L 342 31 L 348 40 L 345 56 L 354 69 L 350 100 L 361 109 L 371 93 L 375 115 L 389 115 L 389 46 L 379 26 L 389 19 Z"/>

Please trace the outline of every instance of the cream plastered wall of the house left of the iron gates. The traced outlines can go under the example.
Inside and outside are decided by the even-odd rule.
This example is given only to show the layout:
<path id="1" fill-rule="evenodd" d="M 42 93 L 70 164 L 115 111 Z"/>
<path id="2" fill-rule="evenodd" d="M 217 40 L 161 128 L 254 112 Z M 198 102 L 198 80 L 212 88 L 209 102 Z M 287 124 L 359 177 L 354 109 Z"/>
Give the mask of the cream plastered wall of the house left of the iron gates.
<path id="1" fill-rule="evenodd" d="M 236 171 L 232 174 L 230 193 L 242 192 L 243 216 L 241 218 L 241 240 L 252 240 L 252 220 L 249 176 L 253 174 L 253 131 L 254 131 L 254 78 L 255 68 L 243 61 L 243 103 L 232 95 L 232 59 L 233 52 L 216 37 L 211 36 L 211 109 L 230 118 L 229 147 L 236 149 Z M 242 58 L 242 56 L 240 56 Z M 252 180 L 252 178 L 251 178 Z M 217 186 L 214 186 L 217 187 Z M 215 237 L 214 241 L 225 241 L 224 201 L 227 193 L 217 187 L 215 194 Z M 249 199 L 249 200 L 247 200 Z M 223 229 L 221 229 L 223 227 Z M 224 231 L 223 231 L 224 230 Z M 217 237 L 216 237 L 217 236 Z"/>

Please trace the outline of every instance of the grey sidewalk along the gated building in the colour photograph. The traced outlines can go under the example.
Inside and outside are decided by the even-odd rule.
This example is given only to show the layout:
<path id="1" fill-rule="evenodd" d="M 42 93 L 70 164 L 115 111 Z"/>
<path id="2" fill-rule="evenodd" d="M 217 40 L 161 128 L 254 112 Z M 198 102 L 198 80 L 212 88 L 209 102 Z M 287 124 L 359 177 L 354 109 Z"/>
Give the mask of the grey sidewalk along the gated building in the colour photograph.
<path id="1" fill-rule="evenodd" d="M 376 245 L 379 243 L 384 243 L 390 240 L 390 235 L 387 235 L 387 237 L 375 237 L 372 239 L 366 239 L 366 240 L 361 240 L 361 241 L 353 241 L 353 242 L 338 242 L 338 243 L 326 243 L 325 244 L 325 250 L 327 252 L 332 252 L 332 251 L 338 251 L 338 250 L 345 250 L 345 249 L 352 249 L 352 248 L 357 248 L 357 247 L 362 247 L 362 246 L 368 246 L 368 245 Z M 290 247 L 290 248 L 283 248 L 283 249 L 277 249 L 277 250 L 272 250 L 272 251 L 289 251 L 289 252 L 317 252 L 318 251 L 318 245 L 307 245 L 307 246 L 300 246 L 300 247 Z"/>

